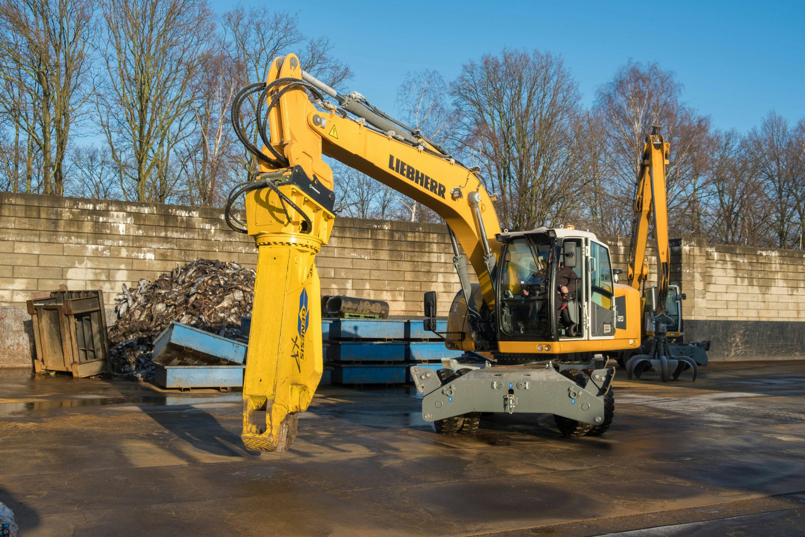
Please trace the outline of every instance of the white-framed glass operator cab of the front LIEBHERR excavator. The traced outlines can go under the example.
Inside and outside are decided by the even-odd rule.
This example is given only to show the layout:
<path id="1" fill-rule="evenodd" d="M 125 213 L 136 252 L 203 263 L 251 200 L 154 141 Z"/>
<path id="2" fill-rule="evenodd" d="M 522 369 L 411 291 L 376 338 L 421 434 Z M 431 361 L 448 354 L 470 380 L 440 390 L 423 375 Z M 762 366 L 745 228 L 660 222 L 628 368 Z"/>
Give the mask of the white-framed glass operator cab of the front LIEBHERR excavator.
<path id="1" fill-rule="evenodd" d="M 498 341 L 614 337 L 612 262 L 594 233 L 539 228 L 496 238 Z"/>

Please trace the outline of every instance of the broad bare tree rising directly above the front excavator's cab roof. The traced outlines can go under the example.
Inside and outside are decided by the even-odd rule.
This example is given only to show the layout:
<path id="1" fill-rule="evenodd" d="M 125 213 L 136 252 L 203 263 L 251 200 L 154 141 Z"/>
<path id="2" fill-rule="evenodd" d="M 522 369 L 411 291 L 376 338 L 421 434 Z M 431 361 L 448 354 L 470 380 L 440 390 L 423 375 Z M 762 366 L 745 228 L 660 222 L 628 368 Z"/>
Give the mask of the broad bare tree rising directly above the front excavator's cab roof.
<path id="1" fill-rule="evenodd" d="M 452 83 L 465 150 L 489 171 L 502 223 L 515 229 L 564 221 L 588 194 L 581 167 L 580 93 L 551 53 L 504 49 L 464 64 Z"/>

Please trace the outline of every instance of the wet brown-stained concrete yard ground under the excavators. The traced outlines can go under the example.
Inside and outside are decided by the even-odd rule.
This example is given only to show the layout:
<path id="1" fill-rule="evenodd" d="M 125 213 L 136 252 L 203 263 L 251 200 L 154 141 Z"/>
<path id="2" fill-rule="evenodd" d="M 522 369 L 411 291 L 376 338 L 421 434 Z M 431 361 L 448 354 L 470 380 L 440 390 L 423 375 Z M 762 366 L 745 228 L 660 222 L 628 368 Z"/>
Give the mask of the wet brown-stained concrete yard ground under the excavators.
<path id="1" fill-rule="evenodd" d="M 279 454 L 242 448 L 240 394 L 4 371 L 0 501 L 21 535 L 805 535 L 803 371 L 619 370 L 580 439 L 517 414 L 440 436 L 413 388 L 328 386 Z"/>

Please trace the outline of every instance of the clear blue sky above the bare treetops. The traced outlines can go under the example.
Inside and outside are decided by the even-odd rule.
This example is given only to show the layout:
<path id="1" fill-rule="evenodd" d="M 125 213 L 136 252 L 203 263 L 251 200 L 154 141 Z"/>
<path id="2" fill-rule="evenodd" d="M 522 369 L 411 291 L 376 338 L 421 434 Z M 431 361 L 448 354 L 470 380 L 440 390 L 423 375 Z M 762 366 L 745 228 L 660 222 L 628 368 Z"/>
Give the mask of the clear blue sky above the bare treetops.
<path id="1" fill-rule="evenodd" d="M 229 2 L 212 0 L 224 11 Z M 264 5 L 266 2 L 243 2 Z M 747 130 L 770 109 L 805 118 L 805 2 L 271 2 L 299 11 L 352 68 L 350 90 L 394 110 L 407 71 L 448 81 L 468 60 L 504 47 L 557 52 L 585 105 L 629 58 L 658 61 L 683 100 L 714 126 Z"/>

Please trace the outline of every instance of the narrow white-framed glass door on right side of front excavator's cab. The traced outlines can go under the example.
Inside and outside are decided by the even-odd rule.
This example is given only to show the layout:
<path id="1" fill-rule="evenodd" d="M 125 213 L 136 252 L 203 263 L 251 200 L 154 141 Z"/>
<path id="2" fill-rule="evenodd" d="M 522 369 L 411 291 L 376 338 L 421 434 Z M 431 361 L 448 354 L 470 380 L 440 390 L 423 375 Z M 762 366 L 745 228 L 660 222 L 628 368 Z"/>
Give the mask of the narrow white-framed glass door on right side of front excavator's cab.
<path id="1" fill-rule="evenodd" d="M 615 337 L 615 284 L 609 248 L 590 241 L 587 255 L 588 334 L 591 340 Z"/>

